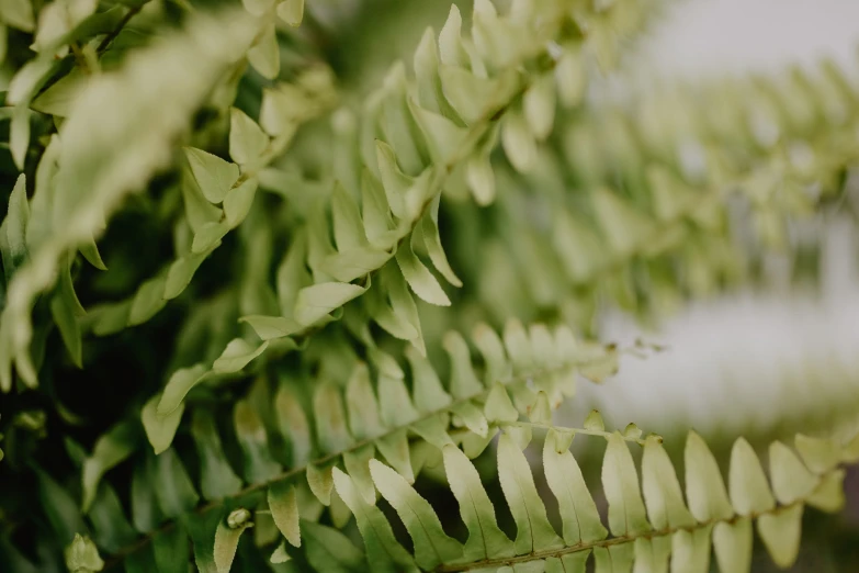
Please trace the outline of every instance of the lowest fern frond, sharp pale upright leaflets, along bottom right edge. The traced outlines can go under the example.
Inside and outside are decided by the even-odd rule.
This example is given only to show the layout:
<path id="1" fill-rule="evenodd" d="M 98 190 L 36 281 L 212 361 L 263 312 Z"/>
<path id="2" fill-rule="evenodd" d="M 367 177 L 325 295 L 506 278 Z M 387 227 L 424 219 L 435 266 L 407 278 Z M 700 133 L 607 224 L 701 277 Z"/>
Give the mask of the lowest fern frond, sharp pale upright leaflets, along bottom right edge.
<path id="1" fill-rule="evenodd" d="M 530 436 L 522 440 L 505 432 L 498 445 L 498 473 L 516 520 L 515 540 L 498 529 L 495 509 L 476 470 L 454 446 L 444 447 L 444 469 L 468 529 L 465 546 L 444 535 L 432 507 L 395 472 L 371 462 L 371 473 L 382 496 L 405 524 L 414 542 L 415 562 L 423 571 L 518 571 L 525 566 L 528 571 L 584 571 L 592 554 L 598 573 L 628 571 L 633 563 L 636 571 L 668 571 L 670 563 L 671 571 L 693 573 L 710 570 L 712 548 L 720 571 L 737 573 L 750 571 L 753 524 L 773 561 L 790 566 L 799 551 L 804 507 L 838 510 L 844 504 L 840 483 L 845 474 L 839 464 L 859 461 L 856 438 L 838 445 L 798 435 L 798 451 L 778 441 L 770 445 L 768 482 L 757 454 L 741 438 L 734 443 L 725 487 L 707 445 L 690 432 L 685 453 L 685 501 L 660 438 L 641 440 L 644 454 L 640 486 L 638 469 L 626 446 L 630 438 L 603 432 L 608 442 L 602 465 L 608 499 L 606 528 L 568 451 L 577 432 L 581 431 L 550 427 L 543 446 L 543 469 L 558 504 L 561 536 L 546 518 L 522 453 Z M 352 482 L 346 474 L 338 473 L 336 487 L 353 510 L 363 505 L 362 515 L 384 519 L 372 505 L 351 495 Z M 366 536 L 362 517 L 358 519 Z M 427 531 L 437 528 L 431 539 L 448 539 L 444 543 L 449 549 L 441 550 L 428 541 Z M 391 553 L 370 543 L 366 551 L 371 566 L 389 566 Z"/>

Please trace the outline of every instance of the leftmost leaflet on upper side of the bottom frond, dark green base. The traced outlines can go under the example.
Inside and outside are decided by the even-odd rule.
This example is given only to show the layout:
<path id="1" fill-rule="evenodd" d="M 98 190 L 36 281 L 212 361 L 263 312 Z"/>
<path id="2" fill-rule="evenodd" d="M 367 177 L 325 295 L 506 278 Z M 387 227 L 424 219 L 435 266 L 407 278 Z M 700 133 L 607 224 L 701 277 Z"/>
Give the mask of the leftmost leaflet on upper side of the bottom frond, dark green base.
<path id="1" fill-rule="evenodd" d="M 412 566 L 411 557 L 394 538 L 391 524 L 382 512 L 368 504 L 352 480 L 337 468 L 334 469 L 334 481 L 337 493 L 355 516 L 371 570 L 393 573 Z"/>

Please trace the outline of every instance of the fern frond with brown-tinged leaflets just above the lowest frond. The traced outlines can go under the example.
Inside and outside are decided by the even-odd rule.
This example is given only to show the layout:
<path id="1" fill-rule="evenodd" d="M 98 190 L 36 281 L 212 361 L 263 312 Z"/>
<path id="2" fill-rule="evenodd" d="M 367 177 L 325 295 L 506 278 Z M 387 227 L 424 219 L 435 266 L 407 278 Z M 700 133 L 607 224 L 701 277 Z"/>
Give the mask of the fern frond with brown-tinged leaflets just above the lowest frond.
<path id="1" fill-rule="evenodd" d="M 576 375 L 599 381 L 617 369 L 617 349 L 577 341 L 563 327 L 550 332 L 533 325 L 525 330 L 511 322 L 499 336 L 481 325 L 473 338 L 483 368 L 475 369 L 465 340 L 449 333 L 445 347 L 451 374 L 447 387 L 436 369 L 414 348 L 406 352 L 410 366 L 408 386 L 396 361 L 377 349 L 370 355 L 375 381 L 363 362 L 354 364 L 342 384 L 321 381 L 313 386 L 309 396 L 301 385 L 287 380 L 269 389 L 260 379 L 233 409 L 230 436 L 235 438 L 229 439 L 235 439 L 241 451 L 242 469 L 238 472 L 225 454 L 227 438 L 222 438 L 223 430 L 215 424 L 213 413 L 205 405 L 190 406 L 191 435 L 203 469 L 199 485 L 189 480 L 184 463 L 170 448 L 184 404 L 172 395 L 162 396 L 160 402 L 158 396 L 150 400 L 142 417 L 159 456 L 138 463 L 140 479 L 136 483 L 163 479 L 162 485 L 174 497 L 162 499 L 157 488 L 139 492 L 144 505 L 133 507 L 132 520 L 147 537 L 114 551 L 111 562 L 176 527 L 172 521 L 158 527 L 157 523 L 142 519 L 140 512 L 149 512 L 145 506 L 169 504 L 170 508 L 162 512 L 165 517 L 193 517 L 217 525 L 224 521 L 212 521 L 212 514 L 225 519 L 233 508 L 251 508 L 262 503 L 263 494 L 279 530 L 297 546 L 303 539 L 303 529 L 301 537 L 298 533 L 299 519 L 315 521 L 324 506 L 329 506 L 337 520 L 336 512 L 343 509 L 339 504 L 347 499 L 335 495 L 334 490 L 338 468 L 348 472 L 357 494 L 373 503 L 376 488 L 371 460 L 377 456 L 403 480 L 412 483 L 445 446 L 459 445 L 470 457 L 476 457 L 500 427 L 530 432 L 529 424 L 518 422 L 521 415 L 530 416 L 539 427 L 546 424 L 551 409 L 562 397 L 575 393 Z M 97 492 L 103 485 L 101 478 L 135 451 L 137 440 L 128 429 L 126 425 L 117 426 L 105 435 L 83 463 L 84 512 L 99 510 Z M 595 425 L 584 431 L 604 435 Z M 195 490 L 202 493 L 206 505 L 197 507 L 200 497 Z M 347 513 L 344 518 L 348 516 Z M 208 533 L 214 536 L 214 531 Z M 224 539 L 236 541 L 231 536 Z"/>

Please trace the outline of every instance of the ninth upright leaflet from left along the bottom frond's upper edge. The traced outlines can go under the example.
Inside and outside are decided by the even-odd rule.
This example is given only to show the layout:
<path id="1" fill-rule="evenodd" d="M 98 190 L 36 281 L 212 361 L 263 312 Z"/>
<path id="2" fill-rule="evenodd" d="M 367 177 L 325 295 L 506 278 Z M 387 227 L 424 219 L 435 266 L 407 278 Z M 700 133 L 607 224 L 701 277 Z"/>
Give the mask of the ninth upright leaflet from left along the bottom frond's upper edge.
<path id="1" fill-rule="evenodd" d="M 737 514 L 750 516 L 768 512 L 776 506 L 760 460 L 744 438 L 737 439 L 731 450 L 727 481 L 731 503 Z"/>

